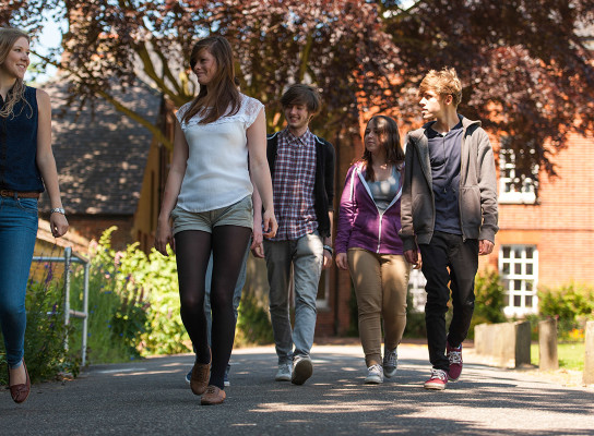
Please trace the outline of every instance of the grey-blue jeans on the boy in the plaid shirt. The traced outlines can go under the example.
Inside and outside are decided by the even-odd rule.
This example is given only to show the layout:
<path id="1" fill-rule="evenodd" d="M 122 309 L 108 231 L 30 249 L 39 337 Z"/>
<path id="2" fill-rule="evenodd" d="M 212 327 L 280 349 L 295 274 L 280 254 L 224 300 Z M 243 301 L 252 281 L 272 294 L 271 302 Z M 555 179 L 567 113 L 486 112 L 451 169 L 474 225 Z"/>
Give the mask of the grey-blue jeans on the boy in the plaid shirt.
<path id="1" fill-rule="evenodd" d="M 316 332 L 316 299 L 324 259 L 318 232 L 294 241 L 264 240 L 270 284 L 270 316 L 278 364 L 293 356 L 309 356 Z M 295 283 L 295 328 L 289 317 L 289 279 L 293 265 Z M 295 352 L 293 346 L 295 344 Z"/>

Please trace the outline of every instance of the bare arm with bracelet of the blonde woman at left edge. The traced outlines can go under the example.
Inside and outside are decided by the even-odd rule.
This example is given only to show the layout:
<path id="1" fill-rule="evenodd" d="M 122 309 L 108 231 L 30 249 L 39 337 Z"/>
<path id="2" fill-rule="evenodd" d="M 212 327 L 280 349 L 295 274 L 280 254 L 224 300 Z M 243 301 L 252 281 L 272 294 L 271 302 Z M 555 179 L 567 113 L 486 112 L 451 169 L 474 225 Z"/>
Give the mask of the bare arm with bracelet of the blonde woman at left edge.
<path id="1" fill-rule="evenodd" d="M 61 208 L 62 199 L 58 185 L 58 170 L 56 159 L 51 152 L 51 102 L 46 92 L 37 89 L 37 168 L 44 179 L 51 208 Z M 68 220 L 60 213 L 54 213 L 49 217 L 51 234 L 59 238 L 68 231 Z"/>

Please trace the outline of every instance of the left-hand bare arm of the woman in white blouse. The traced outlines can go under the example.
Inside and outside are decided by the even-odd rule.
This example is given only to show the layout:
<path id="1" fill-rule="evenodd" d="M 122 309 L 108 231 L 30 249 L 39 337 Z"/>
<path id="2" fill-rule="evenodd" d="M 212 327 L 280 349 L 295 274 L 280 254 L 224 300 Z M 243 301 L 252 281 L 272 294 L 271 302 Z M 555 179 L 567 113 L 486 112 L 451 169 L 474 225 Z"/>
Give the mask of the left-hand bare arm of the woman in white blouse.
<path id="1" fill-rule="evenodd" d="M 175 240 L 171 232 L 171 226 L 169 225 L 169 217 L 171 210 L 174 210 L 174 207 L 176 206 L 177 197 L 181 190 L 181 182 L 183 181 L 183 174 L 186 174 L 188 154 L 189 150 L 186 136 L 183 135 L 181 125 L 176 120 L 174 158 L 171 160 L 171 168 L 169 168 L 169 174 L 167 175 L 167 182 L 165 183 L 165 192 L 163 193 L 163 203 L 161 205 L 157 231 L 155 234 L 155 249 L 165 256 L 167 256 L 167 244 L 169 244 L 175 252 Z"/>

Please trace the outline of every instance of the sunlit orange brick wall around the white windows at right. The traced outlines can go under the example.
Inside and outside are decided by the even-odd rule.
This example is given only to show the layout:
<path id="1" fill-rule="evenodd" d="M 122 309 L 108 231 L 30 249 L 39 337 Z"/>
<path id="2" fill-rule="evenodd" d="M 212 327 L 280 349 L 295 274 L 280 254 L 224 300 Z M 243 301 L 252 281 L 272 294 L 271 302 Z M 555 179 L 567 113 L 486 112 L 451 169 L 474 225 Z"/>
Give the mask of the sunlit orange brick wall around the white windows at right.
<path id="1" fill-rule="evenodd" d="M 489 261 L 497 265 L 501 244 L 534 244 L 539 286 L 593 284 L 594 140 L 573 135 L 551 160 L 558 177 L 540 173 L 537 205 L 499 205 L 500 231 Z"/>

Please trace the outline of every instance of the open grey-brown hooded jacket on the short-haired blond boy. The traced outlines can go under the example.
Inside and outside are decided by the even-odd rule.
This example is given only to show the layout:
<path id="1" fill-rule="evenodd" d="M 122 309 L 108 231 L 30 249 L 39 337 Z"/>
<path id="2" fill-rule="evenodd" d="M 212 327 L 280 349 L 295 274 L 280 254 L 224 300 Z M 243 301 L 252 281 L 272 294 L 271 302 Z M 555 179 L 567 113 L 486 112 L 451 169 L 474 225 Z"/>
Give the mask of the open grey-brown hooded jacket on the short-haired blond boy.
<path id="1" fill-rule="evenodd" d="M 404 187 L 402 192 L 402 230 L 404 251 L 428 244 L 436 221 L 431 165 L 426 130 L 432 122 L 406 135 Z M 487 133 L 480 121 L 462 117 L 462 153 L 460 165 L 460 225 L 466 239 L 495 242 L 497 227 L 497 175 Z"/>

